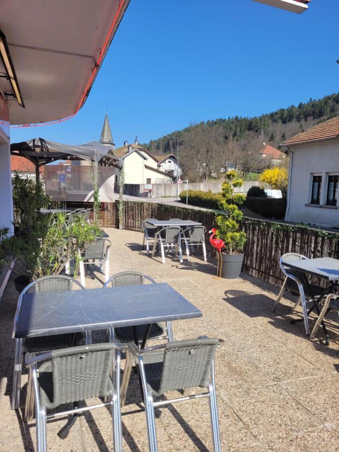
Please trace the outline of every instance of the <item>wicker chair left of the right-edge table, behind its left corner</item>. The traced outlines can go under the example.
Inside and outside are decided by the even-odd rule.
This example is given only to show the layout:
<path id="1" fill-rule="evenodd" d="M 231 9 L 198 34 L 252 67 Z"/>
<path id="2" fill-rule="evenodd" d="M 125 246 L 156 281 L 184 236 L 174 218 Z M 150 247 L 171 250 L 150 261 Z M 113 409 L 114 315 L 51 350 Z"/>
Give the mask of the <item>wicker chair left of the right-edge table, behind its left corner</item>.
<path id="1" fill-rule="evenodd" d="M 299 294 L 299 298 L 298 298 L 297 302 L 295 303 L 293 309 L 295 309 L 301 302 L 302 310 L 303 310 L 303 317 L 304 317 L 304 324 L 305 324 L 305 331 L 306 331 L 306 334 L 309 334 L 306 299 L 312 298 L 312 296 L 321 295 L 323 292 L 323 289 L 314 284 L 310 284 L 310 283 L 306 284 L 306 279 L 305 279 L 306 277 L 305 277 L 304 273 L 302 273 L 298 270 L 294 270 L 294 269 L 289 268 L 286 265 L 284 265 L 284 262 L 286 259 L 300 260 L 300 259 L 308 259 L 308 258 L 301 254 L 297 254 L 297 253 L 286 253 L 281 256 L 281 258 L 279 259 L 279 266 L 281 268 L 281 271 L 285 275 L 285 279 L 284 279 L 283 285 L 280 289 L 280 292 L 278 294 L 278 297 L 274 303 L 274 306 L 272 308 L 272 312 L 274 312 L 276 310 L 276 307 L 280 303 L 281 297 L 283 296 L 285 290 L 290 290 L 293 293 Z"/>

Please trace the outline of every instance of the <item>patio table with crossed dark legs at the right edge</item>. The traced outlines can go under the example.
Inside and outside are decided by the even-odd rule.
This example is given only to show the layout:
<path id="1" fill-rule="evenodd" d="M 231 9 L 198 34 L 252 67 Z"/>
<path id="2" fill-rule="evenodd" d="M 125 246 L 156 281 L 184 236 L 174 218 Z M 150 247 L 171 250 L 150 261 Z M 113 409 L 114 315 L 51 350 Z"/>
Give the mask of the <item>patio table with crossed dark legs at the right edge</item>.
<path id="1" fill-rule="evenodd" d="M 309 285 L 309 281 L 306 277 L 306 274 L 315 276 L 316 278 L 324 279 L 325 281 L 328 281 L 328 286 L 324 287 L 322 295 L 318 297 L 319 300 L 321 300 L 325 295 L 327 295 L 329 292 L 333 292 L 335 290 L 335 287 L 339 283 L 339 260 L 333 259 L 329 257 L 325 258 L 315 258 L 315 259 L 286 259 L 284 261 L 284 265 L 286 267 L 292 268 L 294 270 L 298 270 L 305 274 L 305 283 L 308 286 L 309 293 L 312 293 L 311 287 Z M 313 305 L 307 312 L 307 316 L 315 309 L 320 314 L 320 309 L 317 300 L 314 296 L 312 296 Z M 297 320 L 293 320 L 292 323 L 295 323 Z M 302 320 L 301 320 L 302 321 Z M 308 322 L 308 320 L 307 320 Z M 326 336 L 326 345 L 329 344 L 329 338 L 328 338 L 328 332 L 326 329 L 325 324 L 322 322 L 322 327 L 325 332 Z M 308 331 L 306 331 L 307 334 L 309 334 L 309 326 Z"/>

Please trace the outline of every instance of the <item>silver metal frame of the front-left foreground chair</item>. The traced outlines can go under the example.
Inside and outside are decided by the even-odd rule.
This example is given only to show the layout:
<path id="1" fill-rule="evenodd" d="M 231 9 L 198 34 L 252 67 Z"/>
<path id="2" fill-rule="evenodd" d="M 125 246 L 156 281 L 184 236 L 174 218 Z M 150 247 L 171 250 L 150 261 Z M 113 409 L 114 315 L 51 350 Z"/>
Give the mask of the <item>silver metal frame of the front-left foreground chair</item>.
<path id="1" fill-rule="evenodd" d="M 74 408 L 66 411 L 55 412 L 47 415 L 46 406 L 41 406 L 40 392 L 39 392 L 39 380 L 38 380 L 38 367 L 37 364 L 42 361 L 51 360 L 52 353 L 45 353 L 39 356 L 33 356 L 26 359 L 26 366 L 29 369 L 26 409 L 28 419 L 33 419 L 33 409 L 35 405 L 36 412 L 36 440 L 38 452 L 47 451 L 47 420 L 55 419 L 57 417 L 68 416 L 70 414 L 82 413 L 94 408 L 101 408 L 104 406 L 111 406 L 112 424 L 113 424 L 113 445 L 115 452 L 123 450 L 123 436 L 121 425 L 121 408 L 120 408 L 120 364 L 121 364 L 121 352 L 126 351 L 126 345 L 115 343 L 110 344 L 114 348 L 115 357 L 114 373 L 111 377 L 114 385 L 114 391 L 110 392 L 108 400 L 103 403 L 97 403 L 95 405 L 85 406 L 82 408 Z M 86 353 L 86 351 L 84 351 Z M 75 401 L 76 402 L 76 401 Z"/>

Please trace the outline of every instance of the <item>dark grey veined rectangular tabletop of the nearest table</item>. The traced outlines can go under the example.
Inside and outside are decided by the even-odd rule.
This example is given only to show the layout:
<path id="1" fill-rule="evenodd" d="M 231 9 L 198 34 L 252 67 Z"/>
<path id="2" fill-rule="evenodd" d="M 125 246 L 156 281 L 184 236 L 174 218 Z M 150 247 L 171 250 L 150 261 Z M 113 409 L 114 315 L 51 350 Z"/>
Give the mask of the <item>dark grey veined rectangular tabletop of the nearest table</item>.
<path id="1" fill-rule="evenodd" d="M 15 337 L 131 326 L 201 317 L 169 284 L 27 293 Z"/>

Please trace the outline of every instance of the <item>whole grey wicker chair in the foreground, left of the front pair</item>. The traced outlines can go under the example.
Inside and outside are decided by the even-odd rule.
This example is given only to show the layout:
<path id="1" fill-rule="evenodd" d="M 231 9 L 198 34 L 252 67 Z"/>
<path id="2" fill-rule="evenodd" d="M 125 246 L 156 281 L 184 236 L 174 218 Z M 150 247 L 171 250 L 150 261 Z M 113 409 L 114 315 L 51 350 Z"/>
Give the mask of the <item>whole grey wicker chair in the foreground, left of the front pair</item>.
<path id="1" fill-rule="evenodd" d="M 93 408 L 111 406 L 113 424 L 113 444 L 115 451 L 123 450 L 121 410 L 120 410 L 120 361 L 123 344 L 95 344 L 72 347 L 46 353 L 26 356 L 26 366 L 31 378 L 27 388 L 26 410 L 28 418 L 36 412 L 37 450 L 47 450 L 46 423 L 48 419 L 81 413 Z M 42 363 L 42 364 L 40 364 Z M 40 364 L 38 369 L 38 364 Z M 110 377 L 111 368 L 114 377 Z M 107 401 L 96 405 L 77 407 L 78 401 L 93 397 L 104 397 Z M 65 403 L 73 403 L 74 408 L 47 415 L 47 409 L 57 408 Z M 74 420 L 76 417 L 73 418 Z M 67 423 L 59 432 L 66 437 L 70 426 Z M 66 433 L 64 432 L 66 429 Z M 61 435 L 62 432 L 62 435 Z"/>

